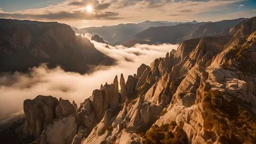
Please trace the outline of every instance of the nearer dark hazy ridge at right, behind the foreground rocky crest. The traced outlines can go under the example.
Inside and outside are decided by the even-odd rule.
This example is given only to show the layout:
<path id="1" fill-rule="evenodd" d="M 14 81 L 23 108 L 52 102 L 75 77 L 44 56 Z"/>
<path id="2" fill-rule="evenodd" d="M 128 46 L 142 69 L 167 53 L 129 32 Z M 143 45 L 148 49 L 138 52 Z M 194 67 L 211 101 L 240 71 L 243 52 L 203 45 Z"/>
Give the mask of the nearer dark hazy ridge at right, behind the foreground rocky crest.
<path id="1" fill-rule="evenodd" d="M 230 28 L 236 26 L 243 20 L 245 20 L 245 18 L 208 23 L 179 24 L 171 27 L 150 27 L 128 39 L 124 45 L 132 46 L 135 44 L 157 43 L 176 44 L 191 38 L 228 35 Z"/>

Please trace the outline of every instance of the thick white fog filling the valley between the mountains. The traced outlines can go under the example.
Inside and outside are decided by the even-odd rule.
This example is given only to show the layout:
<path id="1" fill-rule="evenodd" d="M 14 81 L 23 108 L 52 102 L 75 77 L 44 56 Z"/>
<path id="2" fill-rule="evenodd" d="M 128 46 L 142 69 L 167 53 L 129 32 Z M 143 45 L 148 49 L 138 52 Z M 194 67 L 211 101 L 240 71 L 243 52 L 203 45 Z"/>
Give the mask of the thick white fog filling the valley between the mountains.
<path id="1" fill-rule="evenodd" d="M 117 65 L 97 67 L 90 74 L 64 72 L 60 67 L 48 69 L 45 64 L 31 68 L 29 73 L 15 72 L 0 76 L 0 123 L 23 112 L 23 101 L 37 95 L 51 95 L 74 100 L 77 104 L 91 96 L 101 84 L 111 83 L 120 73 L 125 79 L 136 73 L 141 63 L 150 64 L 155 58 L 164 57 L 177 45 L 136 45 L 134 47 L 110 46 L 92 41 L 102 53 L 117 60 Z"/>

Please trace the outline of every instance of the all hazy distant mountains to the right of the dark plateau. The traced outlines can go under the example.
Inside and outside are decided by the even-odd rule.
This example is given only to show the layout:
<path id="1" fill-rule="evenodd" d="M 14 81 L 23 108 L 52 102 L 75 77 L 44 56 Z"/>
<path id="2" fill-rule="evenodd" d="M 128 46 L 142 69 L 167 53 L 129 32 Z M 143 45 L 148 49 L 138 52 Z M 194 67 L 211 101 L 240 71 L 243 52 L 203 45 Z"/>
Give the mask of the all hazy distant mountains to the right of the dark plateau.
<path id="1" fill-rule="evenodd" d="M 99 35 L 110 45 L 130 47 L 135 44 L 177 44 L 191 38 L 228 35 L 230 28 L 238 25 L 243 20 L 246 20 L 246 18 L 186 23 L 145 21 L 138 24 L 119 24 L 108 27 L 86 27 L 82 29 L 73 27 L 73 30 L 76 33 Z"/>

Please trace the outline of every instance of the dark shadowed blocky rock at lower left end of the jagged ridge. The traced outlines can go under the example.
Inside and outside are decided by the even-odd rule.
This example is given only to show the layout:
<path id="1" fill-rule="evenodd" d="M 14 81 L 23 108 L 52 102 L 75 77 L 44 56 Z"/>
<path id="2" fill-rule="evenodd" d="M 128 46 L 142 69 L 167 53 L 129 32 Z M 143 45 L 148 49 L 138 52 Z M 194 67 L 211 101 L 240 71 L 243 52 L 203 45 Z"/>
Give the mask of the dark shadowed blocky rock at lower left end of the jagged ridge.
<path id="1" fill-rule="evenodd" d="M 54 119 L 67 117 L 74 112 L 75 108 L 69 100 L 58 101 L 52 96 L 40 95 L 35 99 L 26 99 L 24 101 L 26 123 L 23 133 L 37 138 Z"/>

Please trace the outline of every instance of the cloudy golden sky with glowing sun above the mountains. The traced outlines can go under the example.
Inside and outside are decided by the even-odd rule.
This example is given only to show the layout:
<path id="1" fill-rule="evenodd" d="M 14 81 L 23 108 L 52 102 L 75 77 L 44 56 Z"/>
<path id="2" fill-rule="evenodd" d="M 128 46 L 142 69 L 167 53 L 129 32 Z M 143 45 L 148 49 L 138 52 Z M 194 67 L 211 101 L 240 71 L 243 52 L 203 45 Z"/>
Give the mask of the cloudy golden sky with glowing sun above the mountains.
<path id="1" fill-rule="evenodd" d="M 256 0 L 0 0 L 0 18 L 57 21 L 78 28 L 254 16 Z"/>

